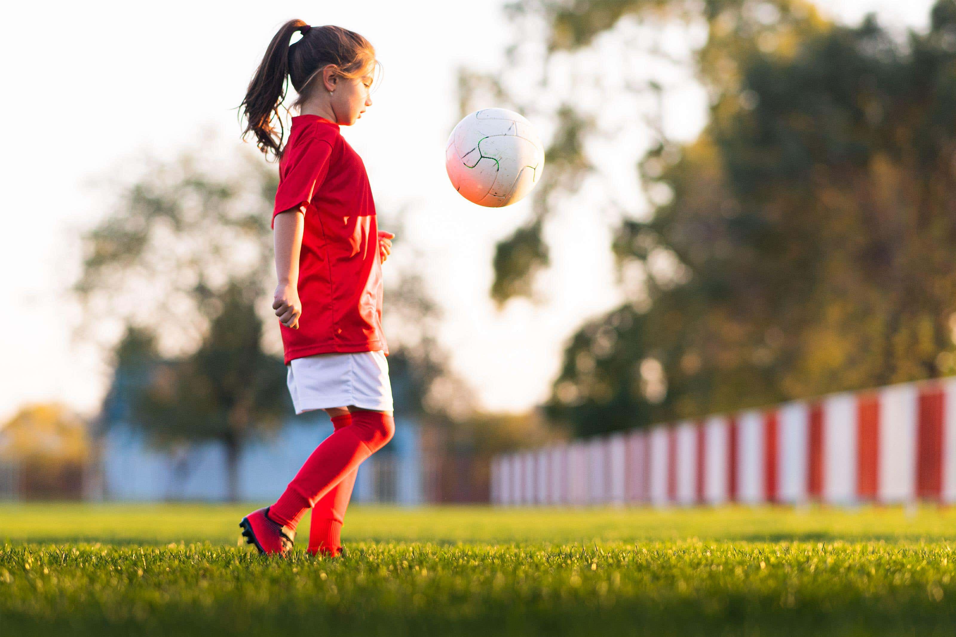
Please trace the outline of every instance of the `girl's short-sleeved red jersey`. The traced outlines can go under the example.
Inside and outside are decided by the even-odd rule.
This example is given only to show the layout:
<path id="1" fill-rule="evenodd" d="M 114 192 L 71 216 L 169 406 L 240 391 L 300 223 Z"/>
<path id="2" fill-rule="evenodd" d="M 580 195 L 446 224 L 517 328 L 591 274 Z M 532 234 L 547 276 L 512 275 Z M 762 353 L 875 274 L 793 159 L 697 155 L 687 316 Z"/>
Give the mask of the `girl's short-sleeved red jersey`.
<path id="1" fill-rule="evenodd" d="M 279 322 L 285 362 L 333 351 L 383 350 L 379 226 L 359 154 L 338 124 L 317 115 L 292 118 L 279 161 L 275 215 L 306 206 L 299 254 L 298 329 Z M 295 213 L 299 214 L 299 213 Z"/>

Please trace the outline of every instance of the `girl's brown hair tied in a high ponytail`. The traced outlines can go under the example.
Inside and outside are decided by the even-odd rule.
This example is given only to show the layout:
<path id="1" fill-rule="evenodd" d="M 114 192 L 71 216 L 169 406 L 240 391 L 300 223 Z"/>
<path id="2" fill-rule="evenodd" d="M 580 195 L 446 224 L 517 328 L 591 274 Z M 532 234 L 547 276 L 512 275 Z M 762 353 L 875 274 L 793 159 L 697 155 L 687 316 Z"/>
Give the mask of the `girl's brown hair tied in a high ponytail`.
<path id="1" fill-rule="evenodd" d="M 303 31 L 302 37 L 290 45 L 289 40 L 297 31 Z M 257 139 L 256 146 L 267 160 L 270 153 L 275 159 L 282 159 L 285 126 L 279 106 L 286 96 L 286 77 L 292 80 L 298 94 L 292 106 L 286 108 L 288 113 L 313 95 L 320 83 L 313 79 L 328 64 L 336 66 L 337 76 L 347 78 L 359 77 L 372 64 L 381 66 L 375 58 L 375 47 L 357 32 L 335 25 L 310 28 L 302 20 L 289 20 L 282 25 L 272 37 L 262 63 L 252 75 L 246 96 L 237 107 L 243 109 L 247 117 L 242 139 L 251 131 Z M 278 120 L 277 134 L 273 117 Z"/>

